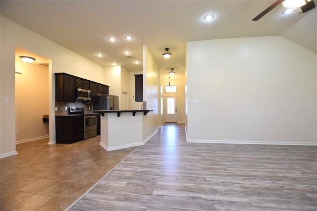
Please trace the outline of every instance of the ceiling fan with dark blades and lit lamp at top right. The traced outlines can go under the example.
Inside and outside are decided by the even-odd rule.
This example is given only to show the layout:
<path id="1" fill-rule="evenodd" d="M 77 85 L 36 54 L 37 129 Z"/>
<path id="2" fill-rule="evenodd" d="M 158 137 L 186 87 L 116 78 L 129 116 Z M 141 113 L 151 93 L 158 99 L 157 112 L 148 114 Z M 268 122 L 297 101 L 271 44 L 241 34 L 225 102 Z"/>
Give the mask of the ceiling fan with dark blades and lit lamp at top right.
<path id="1" fill-rule="evenodd" d="M 292 7 L 292 6 L 288 6 L 287 3 L 289 3 L 289 1 L 302 1 L 304 3 L 304 5 L 300 6 L 301 7 L 301 10 L 302 12 L 307 12 L 311 9 L 313 9 L 315 7 L 315 3 L 313 0 L 277 0 L 275 1 L 274 3 L 272 3 L 269 7 L 267 7 L 266 9 L 264 9 L 263 12 L 261 12 L 258 16 L 256 16 L 255 18 L 253 18 L 252 20 L 253 21 L 257 21 L 259 20 L 260 18 L 262 18 L 266 13 L 268 13 L 269 11 L 271 11 L 272 9 L 274 9 L 278 4 L 282 3 L 283 2 L 283 5 L 285 7 Z M 296 6 L 298 7 L 298 6 Z"/>

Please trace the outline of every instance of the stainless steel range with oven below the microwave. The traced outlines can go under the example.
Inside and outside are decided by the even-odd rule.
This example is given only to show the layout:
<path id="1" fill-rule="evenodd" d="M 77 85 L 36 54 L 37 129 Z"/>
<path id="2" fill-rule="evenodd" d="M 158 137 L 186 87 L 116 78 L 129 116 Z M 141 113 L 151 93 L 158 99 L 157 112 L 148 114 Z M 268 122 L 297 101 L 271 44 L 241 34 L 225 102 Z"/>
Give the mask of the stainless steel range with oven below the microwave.
<path id="1" fill-rule="evenodd" d="M 70 115 L 83 115 L 84 118 L 84 139 L 97 136 L 97 116 L 94 114 L 85 114 L 84 107 L 71 107 L 68 109 Z"/>

